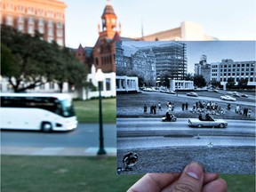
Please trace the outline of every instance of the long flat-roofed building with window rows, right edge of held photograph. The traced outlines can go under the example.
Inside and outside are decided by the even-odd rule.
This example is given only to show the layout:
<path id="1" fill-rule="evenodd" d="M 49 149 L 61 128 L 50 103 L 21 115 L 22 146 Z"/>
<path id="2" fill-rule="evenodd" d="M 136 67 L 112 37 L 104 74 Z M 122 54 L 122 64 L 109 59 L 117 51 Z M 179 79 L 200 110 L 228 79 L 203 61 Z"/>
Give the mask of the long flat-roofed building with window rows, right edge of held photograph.
<path id="1" fill-rule="evenodd" d="M 228 78 L 234 78 L 237 84 L 240 79 L 247 80 L 247 85 L 256 85 L 256 61 L 234 61 L 221 60 L 220 63 L 211 64 L 211 78 L 212 80 L 220 81 L 221 84 L 226 84 Z"/>

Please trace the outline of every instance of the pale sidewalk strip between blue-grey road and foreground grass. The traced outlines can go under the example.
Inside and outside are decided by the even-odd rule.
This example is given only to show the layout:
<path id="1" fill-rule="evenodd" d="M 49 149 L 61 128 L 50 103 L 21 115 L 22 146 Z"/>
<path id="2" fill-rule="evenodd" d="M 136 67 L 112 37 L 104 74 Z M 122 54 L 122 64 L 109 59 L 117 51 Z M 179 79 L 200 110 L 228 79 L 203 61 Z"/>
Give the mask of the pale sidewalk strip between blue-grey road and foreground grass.
<path id="1" fill-rule="evenodd" d="M 99 148 L 1 147 L 1 155 L 15 156 L 97 156 Z M 116 148 L 105 148 L 106 156 L 116 156 Z"/>

